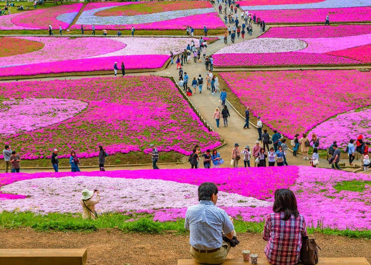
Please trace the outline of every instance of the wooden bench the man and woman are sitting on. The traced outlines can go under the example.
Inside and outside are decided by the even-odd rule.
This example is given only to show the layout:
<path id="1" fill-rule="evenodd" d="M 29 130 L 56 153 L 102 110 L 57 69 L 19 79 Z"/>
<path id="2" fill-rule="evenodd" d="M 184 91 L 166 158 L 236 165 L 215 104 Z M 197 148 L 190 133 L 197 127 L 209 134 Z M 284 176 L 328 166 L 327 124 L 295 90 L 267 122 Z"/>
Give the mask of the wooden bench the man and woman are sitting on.
<path id="1" fill-rule="evenodd" d="M 178 265 L 201 265 L 194 260 L 178 260 Z M 222 265 L 251 265 L 241 258 L 227 259 Z M 258 265 L 270 265 L 267 259 L 258 258 Z M 366 258 L 321 258 L 317 265 L 370 265 Z"/>

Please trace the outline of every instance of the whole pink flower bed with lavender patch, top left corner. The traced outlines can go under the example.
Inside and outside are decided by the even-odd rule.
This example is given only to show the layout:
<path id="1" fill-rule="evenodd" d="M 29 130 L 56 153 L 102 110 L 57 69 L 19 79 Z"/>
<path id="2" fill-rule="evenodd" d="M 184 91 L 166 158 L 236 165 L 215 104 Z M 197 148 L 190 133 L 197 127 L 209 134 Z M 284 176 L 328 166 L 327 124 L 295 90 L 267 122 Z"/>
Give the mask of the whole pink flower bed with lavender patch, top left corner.
<path id="1" fill-rule="evenodd" d="M 49 24 L 54 29 L 59 28 L 59 25 L 66 29 L 82 6 L 83 3 L 64 4 L 0 16 L 0 30 L 48 29 Z M 57 16 L 62 14 L 68 23 L 57 19 Z"/>

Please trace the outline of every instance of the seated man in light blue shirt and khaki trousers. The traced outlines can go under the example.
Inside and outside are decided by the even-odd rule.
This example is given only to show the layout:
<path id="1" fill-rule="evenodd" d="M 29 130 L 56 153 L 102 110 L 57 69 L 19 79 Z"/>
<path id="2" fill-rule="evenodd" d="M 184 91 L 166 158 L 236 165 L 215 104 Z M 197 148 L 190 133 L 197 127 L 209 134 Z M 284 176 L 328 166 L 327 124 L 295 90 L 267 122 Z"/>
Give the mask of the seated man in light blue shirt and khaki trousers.
<path id="1" fill-rule="evenodd" d="M 231 244 L 223 240 L 235 235 L 233 220 L 216 207 L 218 187 L 204 182 L 198 187 L 199 204 L 191 206 L 185 214 L 185 229 L 189 230 L 190 254 L 201 264 L 221 264 L 227 258 Z"/>

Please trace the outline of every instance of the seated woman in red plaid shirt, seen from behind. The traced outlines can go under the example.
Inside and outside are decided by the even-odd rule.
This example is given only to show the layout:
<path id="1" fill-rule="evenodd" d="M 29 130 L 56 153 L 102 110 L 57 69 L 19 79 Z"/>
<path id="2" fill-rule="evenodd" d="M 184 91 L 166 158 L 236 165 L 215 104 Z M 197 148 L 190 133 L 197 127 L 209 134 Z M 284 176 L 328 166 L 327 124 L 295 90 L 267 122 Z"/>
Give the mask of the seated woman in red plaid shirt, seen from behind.
<path id="1" fill-rule="evenodd" d="M 289 189 L 275 192 L 274 213 L 265 217 L 263 239 L 268 241 L 264 252 L 272 265 L 295 265 L 299 263 L 301 238 L 307 235 L 305 220 L 296 204 L 294 193 Z"/>

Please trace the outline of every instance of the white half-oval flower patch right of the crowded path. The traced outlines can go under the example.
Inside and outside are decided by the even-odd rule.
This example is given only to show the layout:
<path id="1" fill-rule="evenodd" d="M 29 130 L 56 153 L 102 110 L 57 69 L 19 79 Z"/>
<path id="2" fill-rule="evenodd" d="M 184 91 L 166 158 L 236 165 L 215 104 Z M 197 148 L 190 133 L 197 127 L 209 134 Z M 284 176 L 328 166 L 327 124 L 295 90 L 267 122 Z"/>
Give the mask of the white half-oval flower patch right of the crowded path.
<path id="1" fill-rule="evenodd" d="M 218 50 L 215 54 L 222 53 L 270 53 L 297 51 L 307 47 L 304 41 L 296 39 L 260 38 L 232 44 Z"/>

